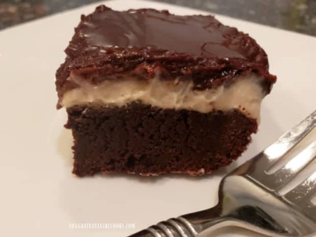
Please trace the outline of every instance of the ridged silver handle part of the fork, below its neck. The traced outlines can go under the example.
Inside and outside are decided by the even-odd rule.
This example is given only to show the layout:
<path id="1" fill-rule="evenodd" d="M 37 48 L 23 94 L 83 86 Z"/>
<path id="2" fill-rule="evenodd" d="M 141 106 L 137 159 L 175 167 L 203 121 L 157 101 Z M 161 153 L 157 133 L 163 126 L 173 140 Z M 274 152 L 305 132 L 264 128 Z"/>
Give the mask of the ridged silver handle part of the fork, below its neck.
<path id="1" fill-rule="evenodd" d="M 159 222 L 128 237 L 199 237 L 206 229 L 212 231 L 222 227 L 223 221 L 221 212 L 216 206 Z"/>

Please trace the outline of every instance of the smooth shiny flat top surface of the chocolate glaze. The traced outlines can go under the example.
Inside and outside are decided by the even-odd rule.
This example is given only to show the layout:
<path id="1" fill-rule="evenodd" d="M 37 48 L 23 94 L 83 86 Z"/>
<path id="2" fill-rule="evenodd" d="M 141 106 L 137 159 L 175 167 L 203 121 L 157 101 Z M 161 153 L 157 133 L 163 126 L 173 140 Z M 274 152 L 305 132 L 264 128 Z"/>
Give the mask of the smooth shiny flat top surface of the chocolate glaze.
<path id="1" fill-rule="evenodd" d="M 151 9 L 106 9 L 104 13 L 82 22 L 80 33 L 89 45 L 162 48 L 208 58 L 249 58 L 235 40 L 238 31 L 212 16 L 175 16 Z"/>

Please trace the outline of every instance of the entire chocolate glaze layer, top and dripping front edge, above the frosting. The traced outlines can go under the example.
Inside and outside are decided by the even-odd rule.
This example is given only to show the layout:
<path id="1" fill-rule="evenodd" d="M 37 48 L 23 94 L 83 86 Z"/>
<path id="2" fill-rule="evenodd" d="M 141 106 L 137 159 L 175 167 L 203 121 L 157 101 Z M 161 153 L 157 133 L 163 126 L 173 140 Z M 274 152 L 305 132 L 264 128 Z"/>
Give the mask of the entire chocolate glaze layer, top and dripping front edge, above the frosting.
<path id="1" fill-rule="evenodd" d="M 77 86 L 66 81 L 70 72 L 97 84 L 125 74 L 149 80 L 159 71 L 166 80 L 193 80 L 195 89 L 203 90 L 251 70 L 265 78 L 267 93 L 276 79 L 256 41 L 213 16 L 99 6 L 82 15 L 65 51 L 56 73 L 59 98 Z"/>

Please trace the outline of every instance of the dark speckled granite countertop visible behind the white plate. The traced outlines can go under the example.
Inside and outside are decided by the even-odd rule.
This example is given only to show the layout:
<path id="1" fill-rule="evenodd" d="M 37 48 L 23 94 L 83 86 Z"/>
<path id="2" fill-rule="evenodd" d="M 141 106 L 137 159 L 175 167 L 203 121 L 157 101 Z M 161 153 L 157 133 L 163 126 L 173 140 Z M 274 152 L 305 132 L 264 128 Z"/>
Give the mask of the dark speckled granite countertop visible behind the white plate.
<path id="1" fill-rule="evenodd" d="M 151 0 L 148 0 L 151 1 Z M 1 0 L 0 30 L 95 0 Z M 316 0 L 161 0 L 316 36 Z"/>

